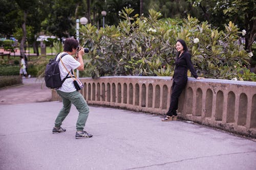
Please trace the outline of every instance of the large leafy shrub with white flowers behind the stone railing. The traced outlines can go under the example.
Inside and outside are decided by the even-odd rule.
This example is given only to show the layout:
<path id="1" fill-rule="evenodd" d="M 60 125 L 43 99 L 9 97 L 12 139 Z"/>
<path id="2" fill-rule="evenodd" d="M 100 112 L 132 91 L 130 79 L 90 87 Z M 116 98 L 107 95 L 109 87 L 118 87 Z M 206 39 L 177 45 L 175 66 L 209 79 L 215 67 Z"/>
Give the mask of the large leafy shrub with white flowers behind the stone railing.
<path id="1" fill-rule="evenodd" d="M 239 29 L 231 21 L 224 31 L 212 29 L 207 21 L 188 16 L 181 26 L 173 20 L 159 19 L 161 13 L 132 16 L 124 8 L 119 26 L 97 30 L 91 24 L 80 29 L 81 42 L 90 48 L 84 61 L 93 78 L 104 75 L 170 76 L 174 70 L 175 44 L 187 42 L 198 74 L 206 78 L 232 79 L 249 57 L 238 43 Z M 194 39 L 199 42 L 194 42 Z M 166 67 L 163 69 L 163 65 Z"/>

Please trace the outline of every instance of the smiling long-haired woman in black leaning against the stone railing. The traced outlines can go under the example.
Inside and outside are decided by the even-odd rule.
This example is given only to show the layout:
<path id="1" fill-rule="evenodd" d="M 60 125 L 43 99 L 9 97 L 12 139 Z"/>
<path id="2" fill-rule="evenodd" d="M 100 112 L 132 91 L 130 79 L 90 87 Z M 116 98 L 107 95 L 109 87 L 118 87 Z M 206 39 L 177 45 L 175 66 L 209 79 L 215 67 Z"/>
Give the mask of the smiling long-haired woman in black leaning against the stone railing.
<path id="1" fill-rule="evenodd" d="M 190 70 L 196 79 L 204 79 L 197 76 L 196 70 L 191 62 L 191 55 L 188 53 L 184 40 L 177 40 L 176 50 L 178 53 L 175 60 L 172 95 L 170 96 L 169 110 L 165 118 L 162 119 L 163 122 L 177 120 L 176 110 L 178 109 L 179 96 L 187 84 L 187 69 Z"/>

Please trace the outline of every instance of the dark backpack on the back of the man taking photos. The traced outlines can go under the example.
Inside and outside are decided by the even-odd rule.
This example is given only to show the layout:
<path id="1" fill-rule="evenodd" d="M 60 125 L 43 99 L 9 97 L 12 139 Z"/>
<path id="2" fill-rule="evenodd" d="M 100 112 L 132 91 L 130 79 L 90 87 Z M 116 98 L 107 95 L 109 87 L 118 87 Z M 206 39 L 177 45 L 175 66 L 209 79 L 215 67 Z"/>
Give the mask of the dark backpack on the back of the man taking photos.
<path id="1" fill-rule="evenodd" d="M 60 58 L 68 55 L 67 53 L 62 54 L 59 59 L 56 61 L 56 57 L 54 59 L 50 59 L 50 62 L 46 65 L 46 71 L 45 71 L 45 82 L 46 82 L 46 87 L 51 88 L 51 89 L 58 89 L 59 87 L 62 86 L 63 82 L 71 77 L 67 76 L 61 80 L 60 78 L 60 71 L 59 71 L 59 61 Z"/>

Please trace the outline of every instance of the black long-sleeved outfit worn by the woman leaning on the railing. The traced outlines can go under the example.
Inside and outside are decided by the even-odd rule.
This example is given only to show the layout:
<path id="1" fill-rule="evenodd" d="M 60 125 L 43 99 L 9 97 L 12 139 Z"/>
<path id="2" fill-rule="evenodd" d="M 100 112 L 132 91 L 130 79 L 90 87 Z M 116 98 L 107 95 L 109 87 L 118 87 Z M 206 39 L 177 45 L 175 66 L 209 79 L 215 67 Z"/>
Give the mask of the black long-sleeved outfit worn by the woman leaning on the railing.
<path id="1" fill-rule="evenodd" d="M 188 52 L 183 52 L 179 57 L 180 52 L 177 54 L 175 59 L 175 70 L 173 76 L 173 87 L 172 94 L 170 96 L 170 107 L 166 115 L 168 116 L 176 116 L 179 96 L 182 90 L 185 88 L 187 84 L 187 69 L 190 70 L 191 74 L 198 78 L 196 70 L 191 62 L 191 55 Z"/>

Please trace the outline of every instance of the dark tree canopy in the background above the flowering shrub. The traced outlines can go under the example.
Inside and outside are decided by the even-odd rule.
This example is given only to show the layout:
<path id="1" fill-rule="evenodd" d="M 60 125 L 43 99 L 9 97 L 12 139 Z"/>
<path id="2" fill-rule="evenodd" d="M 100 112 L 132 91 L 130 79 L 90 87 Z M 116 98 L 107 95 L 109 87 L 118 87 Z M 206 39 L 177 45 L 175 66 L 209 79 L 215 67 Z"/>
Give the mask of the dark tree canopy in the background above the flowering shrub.
<path id="1" fill-rule="evenodd" d="M 59 38 L 75 36 L 75 21 L 86 16 L 89 23 L 102 27 L 101 11 L 106 11 L 105 24 L 117 26 L 120 11 L 133 8 L 134 14 L 148 16 L 148 10 L 160 11 L 162 18 L 186 18 L 208 21 L 213 27 L 224 30 L 232 21 L 240 31 L 245 30 L 246 50 L 256 36 L 255 0 L 0 0 L 0 36 L 10 37 L 18 28 L 30 26 L 34 37 L 39 34 Z M 240 33 L 241 34 L 241 33 Z M 25 38 L 26 39 L 26 38 Z M 35 39 L 34 39 L 35 41 Z"/>

